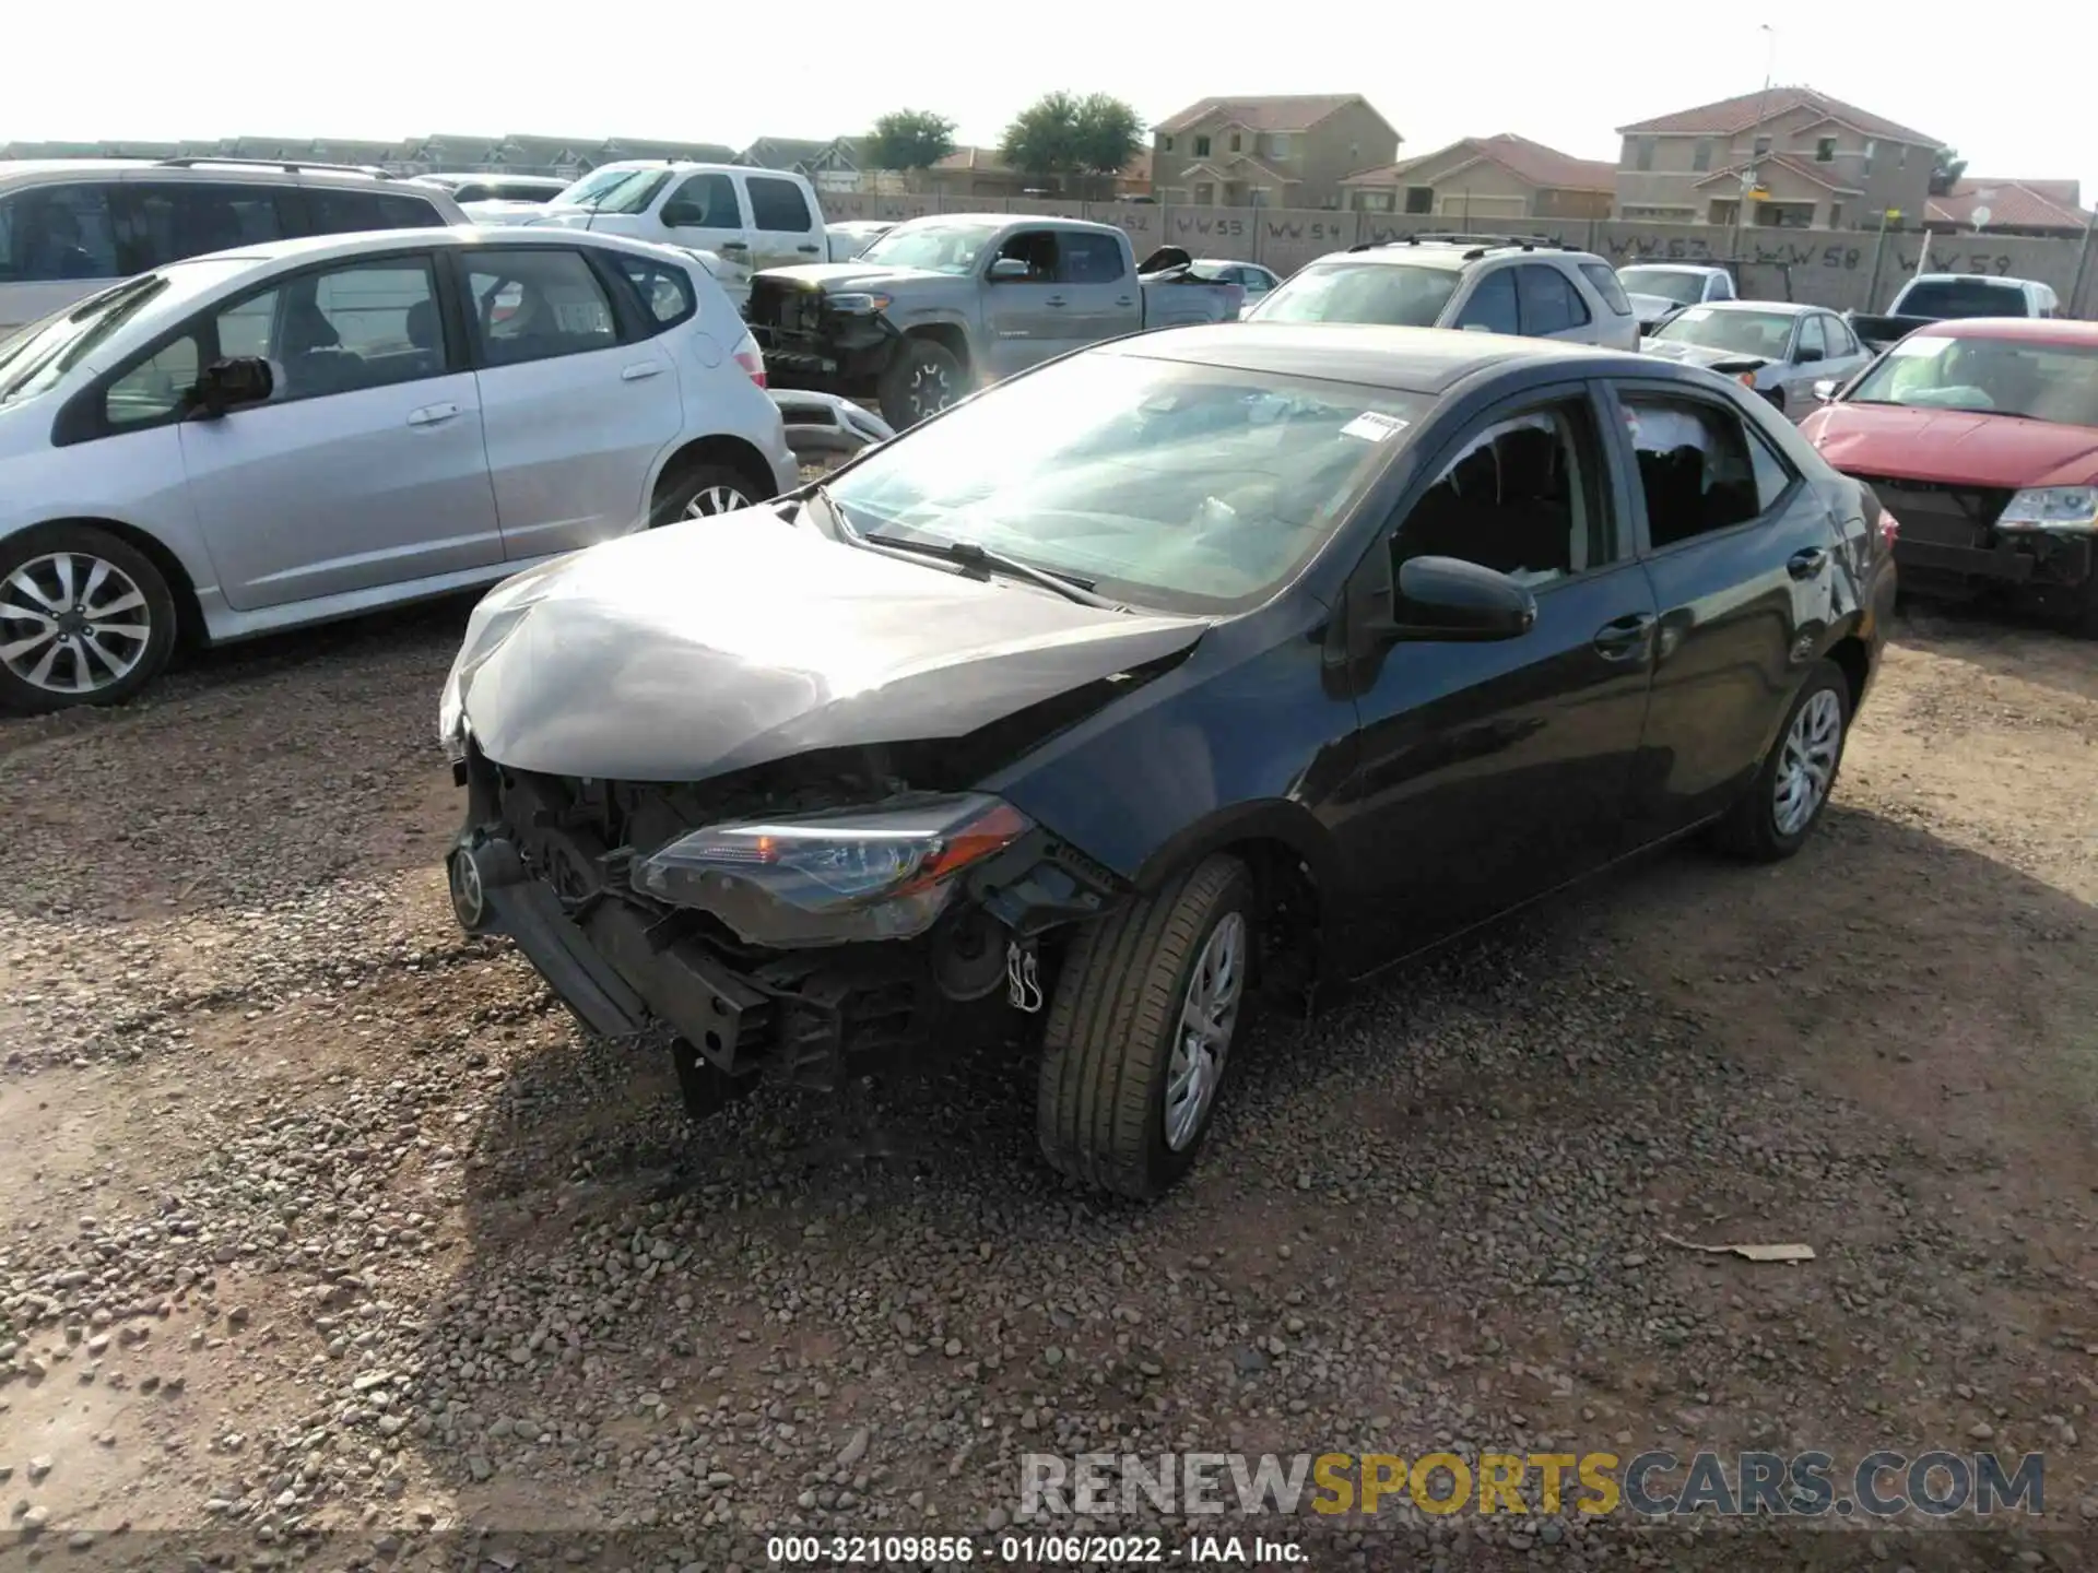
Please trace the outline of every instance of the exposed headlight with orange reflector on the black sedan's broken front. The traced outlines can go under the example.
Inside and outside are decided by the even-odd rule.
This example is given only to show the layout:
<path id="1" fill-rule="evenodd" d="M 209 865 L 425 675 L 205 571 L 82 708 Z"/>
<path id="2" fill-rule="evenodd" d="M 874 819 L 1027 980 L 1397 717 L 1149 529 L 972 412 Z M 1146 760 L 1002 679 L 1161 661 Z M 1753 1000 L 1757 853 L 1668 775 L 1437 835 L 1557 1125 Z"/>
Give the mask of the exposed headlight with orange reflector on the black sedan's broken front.
<path id="1" fill-rule="evenodd" d="M 749 944 L 908 940 L 940 917 L 957 875 L 1034 822 L 982 793 L 709 824 L 634 864 L 634 887 L 713 912 Z"/>

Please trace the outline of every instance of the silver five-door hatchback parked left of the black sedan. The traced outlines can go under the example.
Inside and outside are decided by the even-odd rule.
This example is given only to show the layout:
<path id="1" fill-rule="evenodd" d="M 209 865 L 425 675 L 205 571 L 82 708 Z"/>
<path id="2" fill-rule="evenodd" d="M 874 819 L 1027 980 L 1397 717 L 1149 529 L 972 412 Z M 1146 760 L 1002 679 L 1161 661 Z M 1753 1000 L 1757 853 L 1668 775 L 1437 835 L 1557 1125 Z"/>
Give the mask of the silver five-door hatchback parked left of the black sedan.
<path id="1" fill-rule="evenodd" d="M 0 705 L 797 484 L 690 256 L 418 229 L 172 262 L 0 342 Z"/>

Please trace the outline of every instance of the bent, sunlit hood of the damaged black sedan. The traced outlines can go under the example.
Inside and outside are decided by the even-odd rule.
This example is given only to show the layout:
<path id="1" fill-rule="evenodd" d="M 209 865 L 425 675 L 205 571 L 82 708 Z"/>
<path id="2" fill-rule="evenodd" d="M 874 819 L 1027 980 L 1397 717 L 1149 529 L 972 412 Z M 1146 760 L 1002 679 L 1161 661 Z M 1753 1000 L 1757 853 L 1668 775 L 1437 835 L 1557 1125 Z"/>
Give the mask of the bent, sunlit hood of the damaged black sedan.
<path id="1" fill-rule="evenodd" d="M 504 581 L 474 608 L 453 675 L 497 763 L 703 780 L 810 749 L 963 736 L 1185 650 L 1204 627 L 841 545 L 764 505 Z"/>

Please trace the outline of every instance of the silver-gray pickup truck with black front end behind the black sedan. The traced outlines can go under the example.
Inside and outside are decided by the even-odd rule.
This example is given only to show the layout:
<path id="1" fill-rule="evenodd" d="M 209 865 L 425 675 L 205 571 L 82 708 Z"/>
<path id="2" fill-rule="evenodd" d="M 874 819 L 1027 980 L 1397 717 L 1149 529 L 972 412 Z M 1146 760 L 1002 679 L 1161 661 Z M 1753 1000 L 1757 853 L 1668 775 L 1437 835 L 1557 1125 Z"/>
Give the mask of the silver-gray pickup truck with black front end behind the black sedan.
<path id="1" fill-rule="evenodd" d="M 877 396 L 902 430 L 1066 350 L 1229 323 L 1242 304 L 1242 285 L 1194 277 L 1179 247 L 1139 266 L 1112 224 L 938 214 L 850 262 L 753 275 L 745 317 L 772 386 Z"/>

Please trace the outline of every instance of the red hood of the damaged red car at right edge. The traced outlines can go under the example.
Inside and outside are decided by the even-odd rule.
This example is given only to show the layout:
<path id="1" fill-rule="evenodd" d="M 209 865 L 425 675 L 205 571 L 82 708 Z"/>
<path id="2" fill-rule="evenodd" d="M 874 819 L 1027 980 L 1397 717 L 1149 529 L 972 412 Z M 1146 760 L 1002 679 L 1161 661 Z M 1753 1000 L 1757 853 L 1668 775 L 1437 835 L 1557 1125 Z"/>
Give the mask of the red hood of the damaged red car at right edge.
<path id="1" fill-rule="evenodd" d="M 1838 470 L 1947 487 L 2085 487 L 2098 482 L 2098 428 L 1972 409 L 1823 405 L 1800 436 Z"/>

